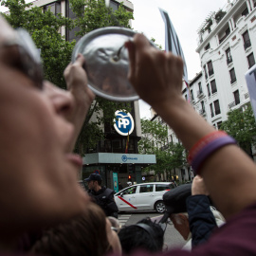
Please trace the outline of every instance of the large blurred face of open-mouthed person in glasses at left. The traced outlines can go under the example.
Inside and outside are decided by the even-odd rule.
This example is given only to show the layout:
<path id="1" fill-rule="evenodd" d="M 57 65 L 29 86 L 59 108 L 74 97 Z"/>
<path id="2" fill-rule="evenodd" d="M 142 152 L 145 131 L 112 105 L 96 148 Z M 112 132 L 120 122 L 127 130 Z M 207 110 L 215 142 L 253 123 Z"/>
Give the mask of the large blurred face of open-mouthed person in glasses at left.
<path id="1" fill-rule="evenodd" d="M 75 128 L 64 113 L 72 97 L 50 99 L 29 36 L 1 15 L 0 27 L 0 238 L 8 245 L 24 231 L 81 214 L 89 197 L 77 183 L 81 158 L 70 153 Z M 73 67 L 82 70 L 83 61 Z"/>

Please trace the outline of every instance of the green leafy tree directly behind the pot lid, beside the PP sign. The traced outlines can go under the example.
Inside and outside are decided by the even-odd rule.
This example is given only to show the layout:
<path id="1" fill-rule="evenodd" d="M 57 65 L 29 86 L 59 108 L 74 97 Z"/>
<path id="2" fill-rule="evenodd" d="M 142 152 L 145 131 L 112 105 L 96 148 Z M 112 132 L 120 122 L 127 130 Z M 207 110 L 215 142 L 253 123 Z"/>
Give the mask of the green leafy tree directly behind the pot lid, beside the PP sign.
<path id="1" fill-rule="evenodd" d="M 119 9 L 113 11 L 105 6 L 104 0 L 70 0 L 73 12 L 76 13 L 75 27 L 80 27 L 76 35 L 84 34 L 99 27 L 129 27 L 129 21 L 133 19 L 133 14 L 124 9 L 120 4 Z M 104 123 L 113 123 L 115 111 L 124 109 L 129 111 L 130 104 L 121 102 L 107 101 L 97 97 L 93 102 L 78 139 L 77 149 L 83 155 L 88 148 L 94 148 L 96 143 L 103 138 L 102 126 Z M 96 117 L 92 121 L 92 117 Z"/>

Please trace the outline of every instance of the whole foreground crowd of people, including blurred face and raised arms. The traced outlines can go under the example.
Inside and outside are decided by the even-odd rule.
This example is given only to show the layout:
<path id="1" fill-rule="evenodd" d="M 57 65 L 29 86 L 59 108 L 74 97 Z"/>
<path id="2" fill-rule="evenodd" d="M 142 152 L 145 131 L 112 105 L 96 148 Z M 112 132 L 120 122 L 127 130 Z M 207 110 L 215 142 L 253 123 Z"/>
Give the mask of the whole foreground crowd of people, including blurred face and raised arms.
<path id="1" fill-rule="evenodd" d="M 159 254 L 164 223 L 144 219 L 120 229 L 113 218 L 117 210 L 112 213 L 106 207 L 112 193 L 103 207 L 95 204 L 100 192 L 109 192 L 101 187 L 101 178 L 88 178 L 92 196 L 78 185 L 82 158 L 72 150 L 94 100 L 82 55 L 64 70 L 67 90 L 59 89 L 43 81 L 38 50 L 29 35 L 13 30 L 1 16 L 0 27 L 0 253 Z M 178 210 L 170 204 L 168 214 L 189 245 L 164 253 L 255 255 L 254 162 L 182 98 L 179 57 L 157 50 L 141 34 L 125 47 L 129 81 L 174 130 L 197 174 L 192 195 L 181 199 L 185 209 L 171 195 L 166 199 L 167 205 L 168 200 L 177 201 Z"/>

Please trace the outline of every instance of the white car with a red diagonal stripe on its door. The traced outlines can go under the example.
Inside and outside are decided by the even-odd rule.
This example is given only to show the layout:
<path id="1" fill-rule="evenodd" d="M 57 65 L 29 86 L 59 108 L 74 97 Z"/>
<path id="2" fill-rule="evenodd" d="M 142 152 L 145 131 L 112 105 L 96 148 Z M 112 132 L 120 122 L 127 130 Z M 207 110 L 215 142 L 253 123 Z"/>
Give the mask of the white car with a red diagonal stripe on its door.
<path id="1" fill-rule="evenodd" d="M 175 188 L 173 182 L 151 182 L 130 186 L 115 194 L 119 211 L 156 210 L 165 211 L 163 194 Z"/>

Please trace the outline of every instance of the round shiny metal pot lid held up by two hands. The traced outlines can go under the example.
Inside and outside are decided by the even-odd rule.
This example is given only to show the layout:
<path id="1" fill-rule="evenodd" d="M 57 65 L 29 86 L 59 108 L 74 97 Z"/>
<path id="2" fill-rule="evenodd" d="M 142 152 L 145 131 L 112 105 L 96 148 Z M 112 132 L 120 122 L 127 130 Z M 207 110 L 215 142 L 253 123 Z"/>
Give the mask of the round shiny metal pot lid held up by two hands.
<path id="1" fill-rule="evenodd" d="M 110 101 L 137 101 L 139 97 L 127 79 L 128 50 L 124 43 L 133 40 L 134 32 L 123 27 L 102 27 L 82 37 L 72 53 L 74 63 L 79 53 L 85 58 L 88 86 Z"/>

